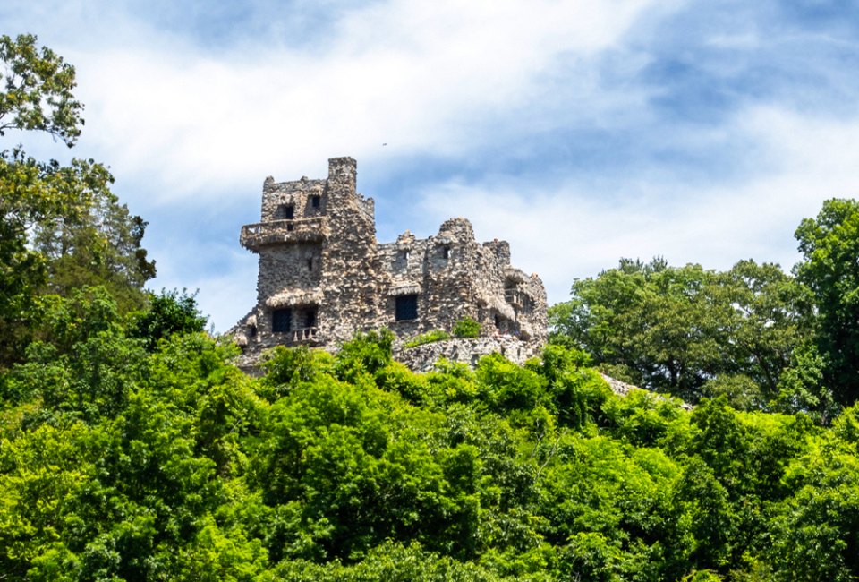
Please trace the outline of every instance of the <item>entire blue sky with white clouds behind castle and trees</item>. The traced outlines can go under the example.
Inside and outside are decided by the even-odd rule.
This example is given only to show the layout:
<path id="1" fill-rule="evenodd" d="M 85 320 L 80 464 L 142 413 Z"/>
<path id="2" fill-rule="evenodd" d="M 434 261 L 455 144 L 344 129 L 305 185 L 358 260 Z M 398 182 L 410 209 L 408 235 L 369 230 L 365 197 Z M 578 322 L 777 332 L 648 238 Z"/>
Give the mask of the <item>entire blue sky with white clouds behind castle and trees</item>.
<path id="1" fill-rule="evenodd" d="M 549 304 L 621 257 L 799 260 L 859 196 L 859 4 L 827 0 L 4 0 L 75 66 L 78 145 L 149 221 L 149 287 L 217 331 L 256 302 L 263 180 L 358 161 L 378 240 L 469 218 Z"/>

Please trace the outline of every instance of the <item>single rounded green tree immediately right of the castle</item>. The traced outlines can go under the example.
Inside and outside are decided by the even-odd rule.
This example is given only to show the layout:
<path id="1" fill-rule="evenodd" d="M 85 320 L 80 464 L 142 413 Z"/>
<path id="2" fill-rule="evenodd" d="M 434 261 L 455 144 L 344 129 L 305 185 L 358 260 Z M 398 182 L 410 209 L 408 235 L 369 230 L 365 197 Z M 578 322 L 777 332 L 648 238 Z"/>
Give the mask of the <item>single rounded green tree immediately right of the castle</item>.
<path id="1" fill-rule="evenodd" d="M 573 300 L 553 308 L 551 322 L 556 334 L 634 383 L 696 398 L 719 372 L 719 332 L 729 316 L 710 295 L 713 276 L 699 265 L 621 260 L 617 269 L 576 281 Z"/>

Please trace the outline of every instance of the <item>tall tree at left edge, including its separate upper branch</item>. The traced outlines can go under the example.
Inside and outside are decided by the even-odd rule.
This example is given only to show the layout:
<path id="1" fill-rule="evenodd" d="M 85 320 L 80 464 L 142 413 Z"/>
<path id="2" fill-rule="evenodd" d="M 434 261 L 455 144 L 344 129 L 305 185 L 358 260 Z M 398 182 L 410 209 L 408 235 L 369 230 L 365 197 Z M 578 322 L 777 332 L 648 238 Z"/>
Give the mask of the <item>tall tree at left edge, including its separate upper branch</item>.
<path id="1" fill-rule="evenodd" d="M 0 37 L 0 68 L 0 135 L 47 132 L 71 147 L 83 124 L 73 67 L 21 35 Z M 155 275 L 140 246 L 146 223 L 119 204 L 112 182 L 93 160 L 62 166 L 0 152 L 0 367 L 23 354 L 40 294 L 104 285 L 120 311 L 143 305 L 143 284 Z"/>

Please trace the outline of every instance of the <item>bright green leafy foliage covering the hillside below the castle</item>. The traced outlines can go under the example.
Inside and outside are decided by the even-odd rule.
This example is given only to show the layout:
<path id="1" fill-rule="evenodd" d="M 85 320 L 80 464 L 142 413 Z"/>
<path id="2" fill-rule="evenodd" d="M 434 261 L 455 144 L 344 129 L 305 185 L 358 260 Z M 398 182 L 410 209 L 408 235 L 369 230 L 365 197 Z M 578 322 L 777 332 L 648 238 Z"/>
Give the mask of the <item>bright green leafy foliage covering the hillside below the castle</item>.
<path id="1" fill-rule="evenodd" d="M 15 577 L 857 573 L 853 409 L 832 429 L 725 397 L 690 413 L 612 394 L 557 346 L 414 374 L 385 332 L 334 356 L 280 347 L 255 379 L 199 332 L 149 343 L 98 289 L 55 298 L 48 320 L 4 378 L 0 568 Z"/>

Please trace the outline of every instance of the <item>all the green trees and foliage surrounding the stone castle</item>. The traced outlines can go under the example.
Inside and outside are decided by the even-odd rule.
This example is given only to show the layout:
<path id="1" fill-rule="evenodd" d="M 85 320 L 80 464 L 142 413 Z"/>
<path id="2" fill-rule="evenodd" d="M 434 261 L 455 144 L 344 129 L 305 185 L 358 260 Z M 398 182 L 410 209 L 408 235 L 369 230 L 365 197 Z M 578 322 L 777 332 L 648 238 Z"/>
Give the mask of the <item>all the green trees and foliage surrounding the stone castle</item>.
<path id="1" fill-rule="evenodd" d="M 28 35 L 0 60 L 0 134 L 73 146 L 73 67 Z M 856 201 L 790 274 L 575 281 L 523 366 L 416 374 L 378 330 L 252 377 L 145 289 L 112 181 L 0 154 L 0 580 L 859 578 Z"/>

